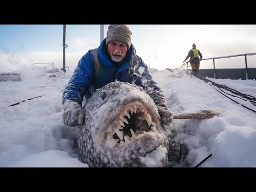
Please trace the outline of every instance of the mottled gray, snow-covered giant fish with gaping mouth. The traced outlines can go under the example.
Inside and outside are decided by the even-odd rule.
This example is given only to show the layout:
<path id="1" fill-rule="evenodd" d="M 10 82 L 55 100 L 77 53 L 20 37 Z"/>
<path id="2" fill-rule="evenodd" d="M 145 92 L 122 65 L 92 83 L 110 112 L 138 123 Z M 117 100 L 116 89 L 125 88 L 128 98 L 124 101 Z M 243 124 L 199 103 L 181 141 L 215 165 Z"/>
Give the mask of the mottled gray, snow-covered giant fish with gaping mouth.
<path id="1" fill-rule="evenodd" d="M 123 123 L 117 123 L 119 116 L 124 116 L 124 110 L 134 106 L 140 108 L 145 114 L 150 114 L 151 123 L 148 126 L 146 120 L 141 121 L 138 117 L 142 112 L 126 116 Z M 165 127 L 161 124 L 160 116 L 154 101 L 139 86 L 124 82 L 112 82 L 93 93 L 91 98 L 85 102 L 83 107 L 85 113 L 85 124 L 77 126 L 77 142 L 83 163 L 90 167 L 163 167 L 168 163 L 169 140 Z M 129 112 L 129 110 L 128 110 Z M 123 114 L 123 115 L 122 115 Z M 121 117 L 121 119 L 122 119 Z M 145 115 L 144 117 L 147 117 Z M 135 132 L 137 123 L 142 122 L 142 131 L 137 136 L 132 136 L 130 129 Z M 149 120 L 150 124 L 150 120 Z M 153 125 L 152 125 L 153 124 Z M 125 125 L 124 128 L 123 125 Z M 154 126 L 155 125 L 155 126 Z M 126 128 L 126 126 L 129 126 Z M 154 126 L 151 131 L 150 127 Z M 114 128 L 115 127 L 115 128 Z M 115 129 L 129 135 L 126 142 L 116 143 L 119 139 Z M 128 130 L 128 131 L 127 131 Z M 118 131 L 117 131 L 118 132 Z M 121 132 L 118 132 L 122 137 Z M 138 133 L 138 131 L 137 131 Z M 123 137 L 123 141 L 125 140 Z M 159 150 L 161 149 L 161 150 Z M 159 159 L 154 164 L 148 164 L 150 158 L 158 154 Z M 147 159 L 147 161 L 145 161 Z M 155 161 L 153 159 L 152 161 Z"/>

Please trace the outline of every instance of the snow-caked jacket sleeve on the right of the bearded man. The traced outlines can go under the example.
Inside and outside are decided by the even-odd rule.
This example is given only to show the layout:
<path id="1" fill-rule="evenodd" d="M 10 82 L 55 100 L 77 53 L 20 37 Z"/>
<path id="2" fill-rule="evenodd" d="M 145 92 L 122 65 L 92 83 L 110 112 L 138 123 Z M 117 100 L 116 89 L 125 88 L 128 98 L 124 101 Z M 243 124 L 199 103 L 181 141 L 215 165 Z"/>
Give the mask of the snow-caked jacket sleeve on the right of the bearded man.
<path id="1" fill-rule="evenodd" d="M 130 72 L 132 73 L 135 85 L 141 86 L 143 91 L 154 100 L 156 106 L 167 107 L 163 91 L 157 86 L 147 65 L 137 55 L 132 61 Z"/>

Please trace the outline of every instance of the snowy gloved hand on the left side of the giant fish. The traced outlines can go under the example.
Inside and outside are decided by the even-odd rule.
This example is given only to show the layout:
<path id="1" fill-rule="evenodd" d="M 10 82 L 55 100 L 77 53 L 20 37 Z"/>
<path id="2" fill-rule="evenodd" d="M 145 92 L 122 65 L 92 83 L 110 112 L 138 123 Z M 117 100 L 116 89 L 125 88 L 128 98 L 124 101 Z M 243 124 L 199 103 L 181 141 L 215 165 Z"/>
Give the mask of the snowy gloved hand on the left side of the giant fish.
<path id="1" fill-rule="evenodd" d="M 68 126 L 81 125 L 84 123 L 84 111 L 77 102 L 67 100 L 63 105 L 62 119 Z"/>

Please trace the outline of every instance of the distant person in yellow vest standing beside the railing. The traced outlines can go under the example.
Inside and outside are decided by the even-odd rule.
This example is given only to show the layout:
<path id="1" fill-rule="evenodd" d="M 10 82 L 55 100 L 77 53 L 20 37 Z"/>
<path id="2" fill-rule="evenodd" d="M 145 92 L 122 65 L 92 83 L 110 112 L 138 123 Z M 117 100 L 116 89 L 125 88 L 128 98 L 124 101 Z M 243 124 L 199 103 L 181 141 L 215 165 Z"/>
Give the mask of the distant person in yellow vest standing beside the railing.
<path id="1" fill-rule="evenodd" d="M 195 43 L 192 45 L 192 47 L 193 48 L 189 50 L 188 55 L 183 62 L 186 62 L 186 60 L 190 58 L 189 60 L 190 66 L 197 73 L 200 66 L 200 61 L 202 61 L 203 59 L 203 55 L 198 49 L 196 49 Z M 199 56 L 200 56 L 200 59 L 199 59 Z"/>

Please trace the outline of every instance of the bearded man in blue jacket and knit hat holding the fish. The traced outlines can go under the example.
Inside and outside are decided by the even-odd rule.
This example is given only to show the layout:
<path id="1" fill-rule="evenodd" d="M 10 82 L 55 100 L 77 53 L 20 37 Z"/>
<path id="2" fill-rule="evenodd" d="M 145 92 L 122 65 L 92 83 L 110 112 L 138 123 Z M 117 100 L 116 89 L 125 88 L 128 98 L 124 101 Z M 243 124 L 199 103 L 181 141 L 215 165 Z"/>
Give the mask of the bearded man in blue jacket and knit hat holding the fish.
<path id="1" fill-rule="evenodd" d="M 136 54 L 131 35 L 126 25 L 110 25 L 98 49 L 89 50 L 79 60 L 62 95 L 62 119 L 66 125 L 83 124 L 83 97 L 90 98 L 95 90 L 116 80 L 141 86 L 154 100 L 163 124 L 172 123 L 172 111 L 147 65 Z"/>

